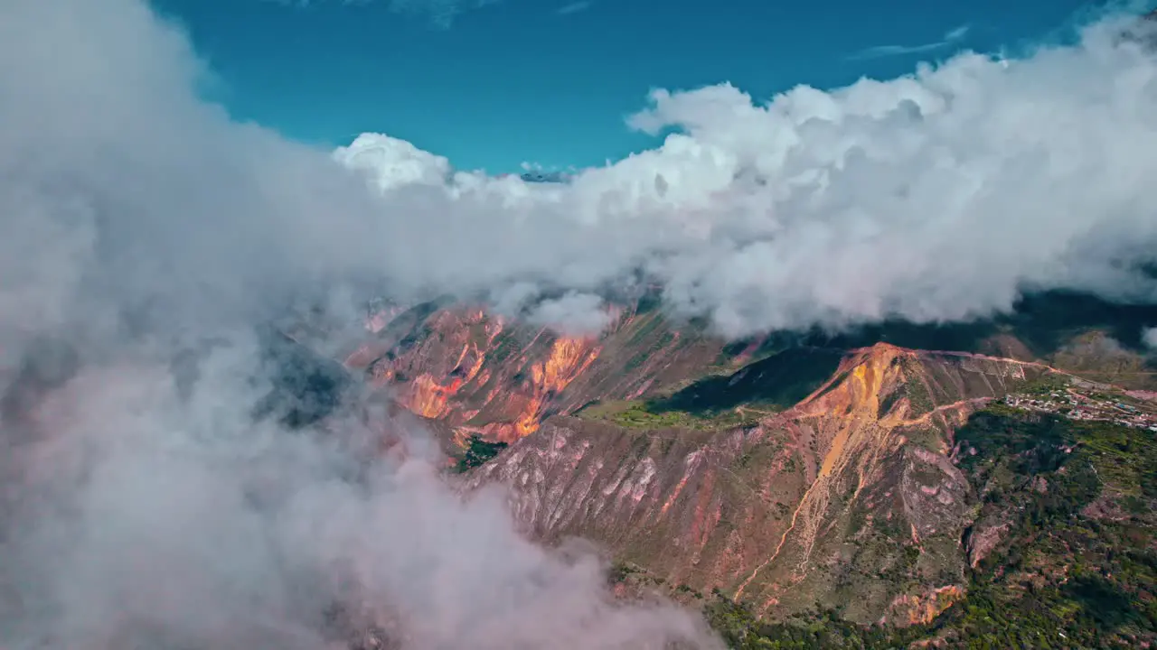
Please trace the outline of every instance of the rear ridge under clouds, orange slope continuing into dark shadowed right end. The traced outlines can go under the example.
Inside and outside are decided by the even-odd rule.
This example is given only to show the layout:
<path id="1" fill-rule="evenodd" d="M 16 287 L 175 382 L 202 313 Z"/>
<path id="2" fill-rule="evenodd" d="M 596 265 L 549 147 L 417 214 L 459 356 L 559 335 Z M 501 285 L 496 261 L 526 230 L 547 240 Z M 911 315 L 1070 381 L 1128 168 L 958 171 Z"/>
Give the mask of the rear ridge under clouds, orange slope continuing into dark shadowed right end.
<path id="1" fill-rule="evenodd" d="M 351 371 L 391 387 L 411 411 L 502 442 L 532 433 L 553 413 L 575 413 L 596 401 L 679 397 L 697 381 L 803 348 L 843 353 L 891 342 L 1045 363 L 1135 390 L 1157 389 L 1151 357 L 1135 352 L 1142 327 L 1157 323 L 1157 308 L 1066 294 L 1026 298 L 1023 311 L 977 324 L 891 324 L 853 334 L 772 333 L 735 342 L 670 319 L 646 300 L 616 305 L 610 316 L 600 335 L 566 337 L 478 306 L 395 306 L 371 313 L 370 339 L 340 356 Z M 838 357 L 824 363 L 834 370 Z M 826 370 L 810 365 L 802 360 L 780 374 L 827 379 Z M 797 389 L 779 406 L 805 394 Z"/>

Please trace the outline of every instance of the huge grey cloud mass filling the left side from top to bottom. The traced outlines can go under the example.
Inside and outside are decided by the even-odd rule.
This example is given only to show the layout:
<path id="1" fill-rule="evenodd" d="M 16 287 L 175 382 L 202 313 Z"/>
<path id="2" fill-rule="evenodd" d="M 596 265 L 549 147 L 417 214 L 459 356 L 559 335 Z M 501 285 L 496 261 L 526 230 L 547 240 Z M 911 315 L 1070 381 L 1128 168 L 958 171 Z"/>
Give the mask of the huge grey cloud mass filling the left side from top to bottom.
<path id="1" fill-rule="evenodd" d="M 327 433 L 259 418 L 255 325 L 378 281 L 426 199 L 231 123 L 200 73 L 141 1 L 0 3 L 0 647 L 712 648 L 356 392 Z"/>

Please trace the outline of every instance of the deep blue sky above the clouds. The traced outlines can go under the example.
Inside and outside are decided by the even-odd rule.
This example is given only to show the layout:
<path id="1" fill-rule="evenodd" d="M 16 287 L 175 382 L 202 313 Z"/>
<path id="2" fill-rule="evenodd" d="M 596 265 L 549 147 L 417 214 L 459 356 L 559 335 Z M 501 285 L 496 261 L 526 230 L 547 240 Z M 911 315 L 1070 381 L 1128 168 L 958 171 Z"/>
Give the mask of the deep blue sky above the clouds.
<path id="1" fill-rule="evenodd" d="M 500 0 L 445 27 L 429 13 L 396 10 L 399 1 L 154 5 L 187 28 L 216 74 L 211 94 L 241 119 L 324 145 L 383 132 L 491 172 L 523 161 L 602 164 L 653 145 L 624 117 L 654 87 L 730 81 L 768 98 L 797 83 L 892 77 L 961 47 L 1052 38 L 1089 6 Z"/>

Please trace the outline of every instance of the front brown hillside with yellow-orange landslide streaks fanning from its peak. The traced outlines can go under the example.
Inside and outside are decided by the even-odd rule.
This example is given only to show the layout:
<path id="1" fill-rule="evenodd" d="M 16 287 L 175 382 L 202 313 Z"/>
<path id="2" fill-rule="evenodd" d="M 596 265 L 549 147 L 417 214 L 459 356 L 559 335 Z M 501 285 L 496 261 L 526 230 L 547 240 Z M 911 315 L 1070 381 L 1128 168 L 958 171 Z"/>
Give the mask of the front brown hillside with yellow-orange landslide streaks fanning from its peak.
<path id="1" fill-rule="evenodd" d="M 951 461 L 968 413 L 1039 368 L 877 345 L 749 426 L 558 416 L 476 471 L 539 537 L 582 534 L 670 584 L 760 612 L 817 600 L 862 622 L 934 616 L 964 590 L 974 497 Z"/>

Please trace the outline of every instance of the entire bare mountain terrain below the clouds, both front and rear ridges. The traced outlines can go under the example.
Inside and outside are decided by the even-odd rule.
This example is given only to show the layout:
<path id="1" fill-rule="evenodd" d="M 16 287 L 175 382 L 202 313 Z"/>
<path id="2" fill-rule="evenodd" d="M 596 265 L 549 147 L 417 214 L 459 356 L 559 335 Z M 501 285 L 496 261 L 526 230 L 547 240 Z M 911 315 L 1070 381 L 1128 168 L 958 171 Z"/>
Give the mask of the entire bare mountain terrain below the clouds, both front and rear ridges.
<path id="1" fill-rule="evenodd" d="M 943 640 L 972 634 L 937 626 L 967 620 L 961 607 L 996 589 L 990 559 L 1025 544 L 1014 510 L 990 511 L 971 464 L 992 458 L 961 431 L 1008 409 L 1068 418 L 1055 405 L 1034 415 L 1038 402 L 1091 399 L 1100 406 L 1063 408 L 1100 416 L 1147 394 L 1152 359 L 1113 334 L 1151 308 L 1062 297 L 1032 309 L 1000 327 L 727 342 L 646 303 L 617 308 L 599 337 L 414 305 L 371 315 L 369 337 L 339 359 L 437 427 L 451 455 L 470 450 L 464 490 L 504 483 L 528 535 L 595 541 L 631 567 L 618 571 L 631 589 L 701 606 L 720 629 L 746 621 L 743 638 L 790 637 L 791 621 L 820 616 L 845 636 Z M 1121 508 L 1106 498 L 1096 508 Z"/>

